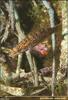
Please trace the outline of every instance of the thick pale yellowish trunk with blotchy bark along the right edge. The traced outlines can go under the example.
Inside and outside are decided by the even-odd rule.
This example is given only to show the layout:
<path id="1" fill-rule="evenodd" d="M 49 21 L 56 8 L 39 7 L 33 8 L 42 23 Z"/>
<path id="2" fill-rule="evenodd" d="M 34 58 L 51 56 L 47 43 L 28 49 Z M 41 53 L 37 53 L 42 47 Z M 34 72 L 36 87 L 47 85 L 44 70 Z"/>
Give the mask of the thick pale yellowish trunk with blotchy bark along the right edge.
<path id="1" fill-rule="evenodd" d="M 61 1 L 62 9 L 62 36 L 61 42 L 61 55 L 60 55 L 60 68 L 57 73 L 57 80 L 65 77 L 68 65 L 68 1 Z"/>

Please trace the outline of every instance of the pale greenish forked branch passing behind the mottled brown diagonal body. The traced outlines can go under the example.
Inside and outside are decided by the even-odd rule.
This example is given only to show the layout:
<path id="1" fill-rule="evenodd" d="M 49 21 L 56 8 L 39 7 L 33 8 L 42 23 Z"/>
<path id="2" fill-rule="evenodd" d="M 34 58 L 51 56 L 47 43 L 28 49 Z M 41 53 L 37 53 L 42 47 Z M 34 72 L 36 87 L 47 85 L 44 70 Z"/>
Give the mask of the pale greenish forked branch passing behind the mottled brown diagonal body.
<path id="1" fill-rule="evenodd" d="M 16 11 L 15 11 L 15 16 L 16 16 L 15 18 L 17 20 L 16 30 L 18 32 L 18 42 L 21 42 L 24 38 L 26 38 L 26 35 L 25 35 L 24 30 L 21 30 L 19 16 Z M 31 72 L 33 72 L 33 74 L 32 74 L 33 75 L 33 83 L 35 86 L 38 86 L 38 75 L 37 75 L 35 59 L 34 59 L 34 57 L 31 56 L 30 51 L 26 52 L 26 57 L 28 59 L 29 65 L 30 65 Z M 17 69 L 16 69 L 16 73 L 18 73 L 18 74 L 19 74 L 21 62 L 22 62 L 22 53 L 20 53 L 18 55 L 18 62 L 17 62 Z"/>

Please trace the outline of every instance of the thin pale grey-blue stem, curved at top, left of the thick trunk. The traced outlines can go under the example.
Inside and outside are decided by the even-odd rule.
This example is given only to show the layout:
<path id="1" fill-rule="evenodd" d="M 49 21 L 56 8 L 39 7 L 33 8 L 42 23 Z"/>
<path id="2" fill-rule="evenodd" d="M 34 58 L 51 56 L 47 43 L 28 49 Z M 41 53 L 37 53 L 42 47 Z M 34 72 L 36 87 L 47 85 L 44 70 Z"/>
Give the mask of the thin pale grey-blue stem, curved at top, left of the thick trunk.
<path id="1" fill-rule="evenodd" d="M 55 11 L 52 8 L 50 2 L 48 1 L 43 1 L 45 7 L 48 9 L 48 14 L 50 17 L 50 25 L 51 28 L 55 27 Z M 55 95 L 55 33 L 53 33 L 51 35 L 51 39 L 52 39 L 52 49 L 53 49 L 53 63 L 52 63 L 52 96 Z"/>

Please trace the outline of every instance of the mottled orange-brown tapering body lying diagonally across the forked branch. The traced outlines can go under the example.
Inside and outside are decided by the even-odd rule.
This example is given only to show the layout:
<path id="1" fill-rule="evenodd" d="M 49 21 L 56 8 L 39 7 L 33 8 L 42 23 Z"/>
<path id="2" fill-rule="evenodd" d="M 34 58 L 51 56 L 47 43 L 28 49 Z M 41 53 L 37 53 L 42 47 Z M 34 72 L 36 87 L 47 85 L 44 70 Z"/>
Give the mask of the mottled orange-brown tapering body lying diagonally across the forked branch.
<path id="1" fill-rule="evenodd" d="M 50 36 L 54 32 L 54 30 L 57 30 L 59 25 L 60 24 L 56 25 L 56 27 L 54 28 L 42 29 L 39 32 L 28 34 L 25 39 L 23 39 L 18 45 L 16 45 L 16 47 L 10 50 L 9 56 L 15 57 L 20 52 L 30 50 L 39 42 L 41 42 L 45 38 L 48 38 L 48 36 Z"/>

